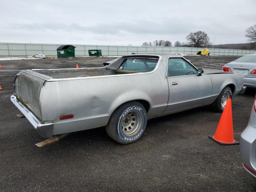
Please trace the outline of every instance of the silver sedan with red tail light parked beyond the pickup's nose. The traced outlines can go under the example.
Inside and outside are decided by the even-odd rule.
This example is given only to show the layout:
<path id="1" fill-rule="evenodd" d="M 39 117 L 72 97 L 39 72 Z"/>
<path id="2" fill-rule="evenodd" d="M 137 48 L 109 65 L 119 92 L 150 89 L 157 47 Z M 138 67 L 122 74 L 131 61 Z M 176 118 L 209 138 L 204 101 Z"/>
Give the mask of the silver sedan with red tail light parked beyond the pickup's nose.
<path id="1" fill-rule="evenodd" d="M 242 56 L 224 65 L 223 71 L 244 75 L 244 85 L 256 88 L 256 53 Z"/>

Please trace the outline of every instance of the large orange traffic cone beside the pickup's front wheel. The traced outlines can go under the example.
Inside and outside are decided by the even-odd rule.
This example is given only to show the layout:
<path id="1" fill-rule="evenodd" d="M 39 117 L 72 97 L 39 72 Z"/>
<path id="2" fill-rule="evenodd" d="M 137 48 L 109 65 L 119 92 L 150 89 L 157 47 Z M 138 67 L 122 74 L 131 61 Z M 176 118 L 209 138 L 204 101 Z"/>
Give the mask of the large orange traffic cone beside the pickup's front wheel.
<path id="1" fill-rule="evenodd" d="M 236 145 L 238 141 L 234 140 L 233 119 L 232 119 L 232 103 L 228 98 L 226 106 L 222 112 L 220 122 L 214 136 L 209 136 L 212 140 L 221 145 Z"/>

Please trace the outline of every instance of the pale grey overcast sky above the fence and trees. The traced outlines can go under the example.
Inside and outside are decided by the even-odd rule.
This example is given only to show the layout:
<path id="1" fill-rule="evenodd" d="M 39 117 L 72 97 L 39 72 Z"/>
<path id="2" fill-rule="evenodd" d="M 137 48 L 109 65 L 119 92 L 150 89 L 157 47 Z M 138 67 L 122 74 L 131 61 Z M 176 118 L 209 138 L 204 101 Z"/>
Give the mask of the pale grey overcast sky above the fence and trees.
<path id="1" fill-rule="evenodd" d="M 140 46 L 204 31 L 215 44 L 244 43 L 256 0 L 1 0 L 0 42 Z"/>

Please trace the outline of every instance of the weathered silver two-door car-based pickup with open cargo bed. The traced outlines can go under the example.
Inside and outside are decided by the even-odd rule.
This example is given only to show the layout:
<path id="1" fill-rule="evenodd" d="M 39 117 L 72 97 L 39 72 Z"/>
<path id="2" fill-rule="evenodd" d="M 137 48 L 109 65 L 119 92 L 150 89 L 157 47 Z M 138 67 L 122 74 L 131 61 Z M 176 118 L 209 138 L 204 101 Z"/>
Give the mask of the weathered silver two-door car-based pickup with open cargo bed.
<path id="1" fill-rule="evenodd" d="M 150 118 L 210 104 L 222 112 L 243 84 L 242 75 L 198 69 L 179 55 L 134 54 L 99 68 L 23 70 L 11 100 L 46 138 L 106 126 L 129 144 Z"/>

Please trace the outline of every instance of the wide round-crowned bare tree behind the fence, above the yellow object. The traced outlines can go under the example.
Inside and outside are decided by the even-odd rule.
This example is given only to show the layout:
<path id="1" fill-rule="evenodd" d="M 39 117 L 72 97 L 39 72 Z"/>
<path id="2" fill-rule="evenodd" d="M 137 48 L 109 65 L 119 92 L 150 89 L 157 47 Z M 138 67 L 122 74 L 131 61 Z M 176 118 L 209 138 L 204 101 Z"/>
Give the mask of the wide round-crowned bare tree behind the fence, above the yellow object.
<path id="1" fill-rule="evenodd" d="M 186 36 L 186 39 L 188 40 L 188 43 L 194 47 L 202 47 L 203 45 L 208 45 L 210 42 L 207 33 L 203 31 L 190 33 Z"/>

